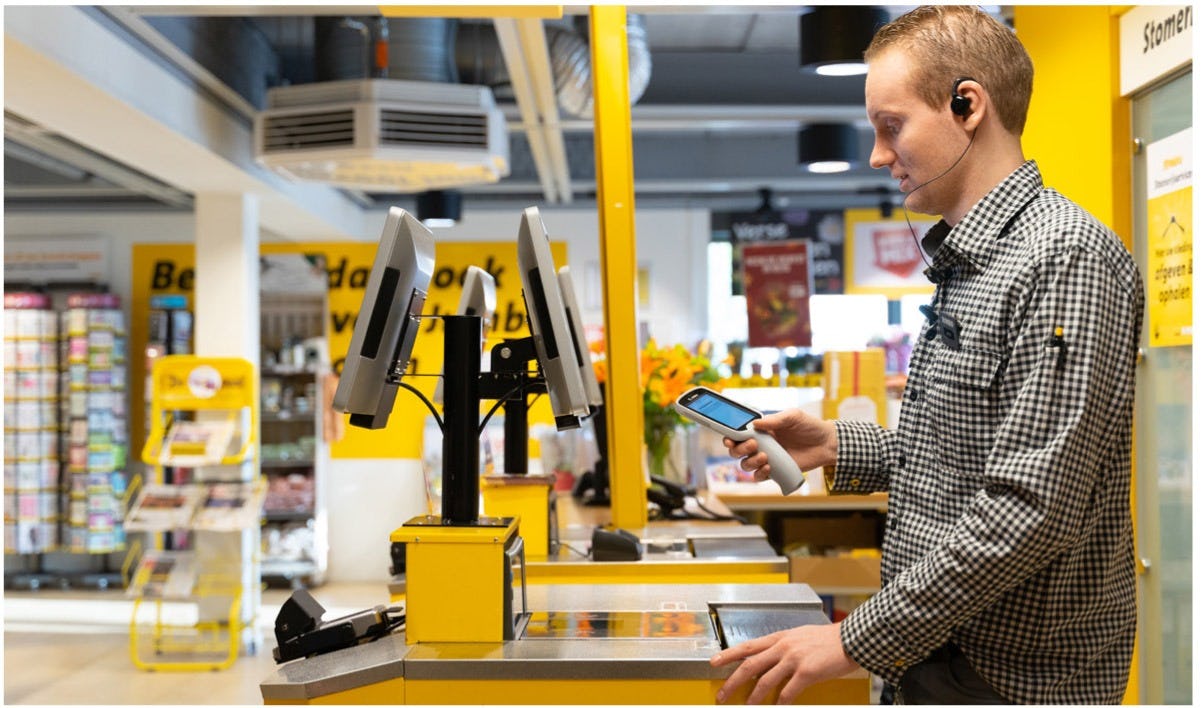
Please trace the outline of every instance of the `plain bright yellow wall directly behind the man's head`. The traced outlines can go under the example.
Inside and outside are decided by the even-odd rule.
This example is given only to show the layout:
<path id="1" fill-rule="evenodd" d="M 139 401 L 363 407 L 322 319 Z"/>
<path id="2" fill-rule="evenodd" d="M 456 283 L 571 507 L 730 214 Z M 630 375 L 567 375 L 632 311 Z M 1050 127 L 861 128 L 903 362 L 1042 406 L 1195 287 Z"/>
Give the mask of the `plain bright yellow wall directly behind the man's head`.
<path id="1" fill-rule="evenodd" d="M 1112 6 L 1017 5 L 1016 36 L 1033 59 L 1023 147 L 1052 187 L 1132 247 L 1128 100 L 1120 93 Z"/>

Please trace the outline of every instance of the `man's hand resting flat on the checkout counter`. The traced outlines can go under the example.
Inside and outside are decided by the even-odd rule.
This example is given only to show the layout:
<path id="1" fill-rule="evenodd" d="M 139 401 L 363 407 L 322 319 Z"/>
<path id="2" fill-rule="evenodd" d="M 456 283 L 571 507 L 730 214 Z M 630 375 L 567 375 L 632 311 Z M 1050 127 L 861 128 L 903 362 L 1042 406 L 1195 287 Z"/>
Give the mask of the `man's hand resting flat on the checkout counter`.
<path id="1" fill-rule="evenodd" d="M 840 624 L 804 625 L 750 639 L 710 657 L 712 666 L 744 660 L 719 689 L 715 700 L 728 696 L 750 680 L 756 682 L 748 703 L 761 703 L 781 686 L 778 703 L 793 703 L 807 686 L 856 671 L 857 665 L 840 644 Z"/>

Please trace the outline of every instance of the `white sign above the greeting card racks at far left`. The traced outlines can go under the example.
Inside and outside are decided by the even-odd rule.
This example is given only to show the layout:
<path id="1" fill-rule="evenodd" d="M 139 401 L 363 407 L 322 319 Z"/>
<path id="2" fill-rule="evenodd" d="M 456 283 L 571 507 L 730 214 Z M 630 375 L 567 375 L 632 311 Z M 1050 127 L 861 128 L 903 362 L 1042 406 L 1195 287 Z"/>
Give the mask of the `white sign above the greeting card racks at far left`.
<path id="1" fill-rule="evenodd" d="M 101 236 L 10 240 L 4 246 L 6 283 L 104 283 L 108 241 Z"/>

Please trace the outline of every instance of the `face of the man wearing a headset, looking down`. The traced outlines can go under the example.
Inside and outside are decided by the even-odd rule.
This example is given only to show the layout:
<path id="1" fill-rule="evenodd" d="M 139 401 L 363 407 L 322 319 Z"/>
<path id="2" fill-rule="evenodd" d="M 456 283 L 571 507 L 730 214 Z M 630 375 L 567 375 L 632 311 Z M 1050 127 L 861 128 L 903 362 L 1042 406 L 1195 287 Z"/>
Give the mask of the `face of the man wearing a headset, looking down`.
<path id="1" fill-rule="evenodd" d="M 915 93 L 911 59 L 902 49 L 887 49 L 870 61 L 866 113 L 874 126 L 869 166 L 891 171 L 907 194 L 907 208 L 936 216 L 952 208 L 962 182 L 958 172 L 967 166 L 958 158 L 969 137 L 948 106 L 932 108 Z M 949 173 L 942 175 L 945 170 Z"/>

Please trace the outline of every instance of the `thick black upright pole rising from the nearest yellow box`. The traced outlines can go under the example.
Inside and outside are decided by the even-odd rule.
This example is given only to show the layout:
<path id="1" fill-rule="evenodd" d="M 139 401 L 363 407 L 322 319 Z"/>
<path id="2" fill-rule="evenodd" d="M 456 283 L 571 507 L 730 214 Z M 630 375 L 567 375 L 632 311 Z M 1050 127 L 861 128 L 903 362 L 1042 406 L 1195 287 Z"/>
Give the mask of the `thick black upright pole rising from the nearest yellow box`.
<path id="1" fill-rule="evenodd" d="M 480 509 L 479 317 L 443 317 L 443 523 L 472 525 Z"/>

